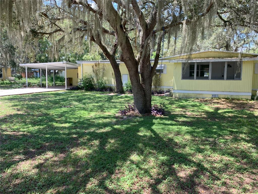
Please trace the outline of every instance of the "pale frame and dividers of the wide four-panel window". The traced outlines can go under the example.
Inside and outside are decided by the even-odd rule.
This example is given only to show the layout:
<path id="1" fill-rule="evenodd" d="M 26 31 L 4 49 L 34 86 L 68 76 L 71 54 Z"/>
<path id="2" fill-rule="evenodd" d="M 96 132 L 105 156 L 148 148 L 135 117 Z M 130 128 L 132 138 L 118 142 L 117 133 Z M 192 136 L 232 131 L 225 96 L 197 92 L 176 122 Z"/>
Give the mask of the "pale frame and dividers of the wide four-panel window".
<path id="1" fill-rule="evenodd" d="M 194 78 L 193 79 L 183 79 L 183 62 L 182 62 L 181 63 L 181 80 L 242 80 L 243 61 L 241 61 L 241 75 L 240 75 L 240 79 L 227 79 L 228 62 L 230 62 L 230 61 L 225 61 L 224 79 L 211 79 L 212 62 L 215 62 L 215 61 L 210 61 L 209 62 L 209 78 L 208 79 L 196 79 L 196 77 L 197 77 L 196 76 L 196 74 L 197 74 L 197 62 L 194 62 L 195 63 Z"/>

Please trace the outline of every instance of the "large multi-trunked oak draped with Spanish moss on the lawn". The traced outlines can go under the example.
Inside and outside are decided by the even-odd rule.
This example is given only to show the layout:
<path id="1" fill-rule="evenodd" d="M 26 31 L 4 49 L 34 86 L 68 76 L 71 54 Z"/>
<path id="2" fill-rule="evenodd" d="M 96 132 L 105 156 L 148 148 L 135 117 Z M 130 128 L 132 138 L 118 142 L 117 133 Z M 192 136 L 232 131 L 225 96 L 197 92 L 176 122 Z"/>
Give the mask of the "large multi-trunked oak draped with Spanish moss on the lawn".
<path id="1" fill-rule="evenodd" d="M 11 2 L 11 3 L 10 3 Z M 1 1 L 1 19 L 14 37 L 46 35 L 53 51 L 87 38 L 109 59 L 118 88 L 121 73 L 116 62 L 128 69 L 134 105 L 140 113 L 151 108 L 152 77 L 159 63 L 163 36 L 183 34 L 181 51 L 190 53 L 198 33 L 209 26 L 248 27 L 257 32 L 257 1 Z M 15 13 L 15 14 L 13 14 Z M 220 23 L 214 18 L 219 18 Z M 13 30 L 15 28 L 15 30 Z M 111 38 L 107 38 L 111 37 Z M 152 52 L 156 51 L 153 64 Z M 118 89 L 119 90 L 119 89 Z"/>

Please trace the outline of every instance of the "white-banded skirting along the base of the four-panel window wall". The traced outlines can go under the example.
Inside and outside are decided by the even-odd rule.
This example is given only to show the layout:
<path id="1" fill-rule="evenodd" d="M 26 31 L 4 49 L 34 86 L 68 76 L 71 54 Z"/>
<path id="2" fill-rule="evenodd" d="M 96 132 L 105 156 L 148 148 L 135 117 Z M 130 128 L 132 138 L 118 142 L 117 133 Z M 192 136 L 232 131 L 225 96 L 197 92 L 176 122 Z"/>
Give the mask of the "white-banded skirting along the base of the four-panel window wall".
<path id="1" fill-rule="evenodd" d="M 174 98 L 240 98 L 251 99 L 251 92 L 174 90 Z"/>

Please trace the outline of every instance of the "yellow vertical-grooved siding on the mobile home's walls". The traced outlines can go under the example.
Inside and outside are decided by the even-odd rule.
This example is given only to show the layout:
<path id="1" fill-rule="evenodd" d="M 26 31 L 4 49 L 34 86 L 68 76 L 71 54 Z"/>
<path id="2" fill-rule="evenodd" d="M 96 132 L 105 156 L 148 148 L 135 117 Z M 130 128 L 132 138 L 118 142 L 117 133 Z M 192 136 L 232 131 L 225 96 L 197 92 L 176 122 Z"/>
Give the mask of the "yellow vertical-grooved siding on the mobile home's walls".
<path id="1" fill-rule="evenodd" d="M 191 55 L 191 58 L 237 58 L 238 53 L 218 52 L 218 51 L 205 51 L 201 53 L 195 53 Z M 184 59 L 186 55 L 166 58 L 170 59 Z M 243 54 L 242 57 L 255 57 L 252 54 Z M 254 74 L 254 64 L 258 61 L 243 61 L 241 80 L 183 80 L 182 78 L 182 63 L 170 63 L 163 62 L 165 64 L 166 73 L 161 74 L 162 84 L 160 88 L 173 86 L 174 94 L 176 98 L 211 98 L 212 94 L 200 93 L 198 91 L 210 91 L 210 93 L 219 93 L 219 98 L 245 98 L 250 99 L 252 89 L 258 87 L 258 74 Z M 101 65 L 103 62 L 101 62 Z M 92 64 L 83 64 L 83 74 L 91 74 L 94 77 L 92 71 Z M 110 63 L 105 62 L 106 73 L 104 79 L 107 80 L 108 85 L 114 85 L 114 79 L 112 77 L 112 67 Z M 120 63 L 121 75 L 128 74 L 128 70 L 124 63 Z M 81 77 L 81 67 L 78 67 L 79 78 Z M 129 75 L 128 75 L 129 78 Z M 95 78 L 94 78 L 95 79 Z M 95 79 L 96 80 L 96 79 Z M 171 82 L 170 82 L 171 81 Z M 168 83 L 169 82 L 169 83 Z M 255 87 L 255 85 L 257 85 Z M 176 90 L 187 91 L 187 93 L 179 93 Z M 191 93 L 192 91 L 192 93 Z M 225 92 L 231 92 L 225 94 Z M 232 94 L 233 92 L 233 94 Z M 241 93 L 238 93 L 241 92 Z M 238 95 L 239 94 L 239 95 Z M 241 94 L 241 95 L 240 95 Z M 248 94 L 248 95 L 247 95 Z M 249 95 L 250 94 L 250 95 Z"/>

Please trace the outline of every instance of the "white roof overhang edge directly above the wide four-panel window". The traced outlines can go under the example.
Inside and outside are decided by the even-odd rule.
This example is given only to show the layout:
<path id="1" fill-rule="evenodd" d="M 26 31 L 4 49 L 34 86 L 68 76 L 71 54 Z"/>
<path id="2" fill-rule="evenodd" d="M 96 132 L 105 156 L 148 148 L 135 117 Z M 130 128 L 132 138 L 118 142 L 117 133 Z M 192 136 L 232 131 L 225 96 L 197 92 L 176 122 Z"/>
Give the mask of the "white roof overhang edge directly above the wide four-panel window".
<path id="1" fill-rule="evenodd" d="M 210 62 L 210 61 L 239 61 L 239 58 L 209 58 L 209 59 L 172 59 L 170 63 L 177 62 Z M 243 57 L 240 61 L 258 61 L 258 57 Z"/>

